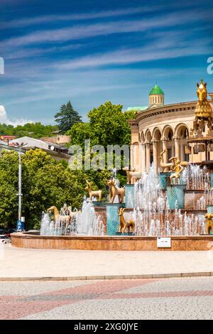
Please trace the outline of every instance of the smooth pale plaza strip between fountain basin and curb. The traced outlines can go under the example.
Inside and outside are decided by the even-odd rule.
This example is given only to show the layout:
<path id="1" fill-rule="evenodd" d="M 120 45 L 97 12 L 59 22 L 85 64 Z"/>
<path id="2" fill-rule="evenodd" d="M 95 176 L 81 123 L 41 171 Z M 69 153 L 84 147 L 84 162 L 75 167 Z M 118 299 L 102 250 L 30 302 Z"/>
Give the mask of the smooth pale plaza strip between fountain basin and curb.
<path id="1" fill-rule="evenodd" d="M 213 252 L 136 252 L 0 247 L 0 280 L 121 278 L 160 274 L 213 274 Z M 136 278 L 138 278 L 136 276 Z M 143 277 L 139 277 L 143 278 Z"/>

